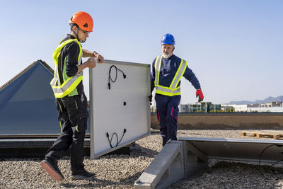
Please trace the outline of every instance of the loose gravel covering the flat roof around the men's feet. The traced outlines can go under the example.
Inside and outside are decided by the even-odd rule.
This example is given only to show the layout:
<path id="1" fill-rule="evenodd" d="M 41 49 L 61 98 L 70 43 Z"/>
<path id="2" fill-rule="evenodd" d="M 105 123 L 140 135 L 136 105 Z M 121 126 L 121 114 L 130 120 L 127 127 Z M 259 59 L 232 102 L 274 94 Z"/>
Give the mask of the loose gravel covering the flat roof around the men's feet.
<path id="1" fill-rule="evenodd" d="M 241 137 L 243 130 L 179 130 L 178 137 Z M 157 131 L 136 142 L 131 155 L 107 155 L 98 159 L 86 156 L 85 168 L 96 174 L 94 178 L 72 181 L 69 159 L 59 161 L 64 181 L 57 182 L 41 168 L 42 159 L 2 159 L 0 188 L 133 188 L 134 181 L 149 166 L 162 149 Z M 270 166 L 263 166 L 267 170 Z M 169 188 L 283 188 L 282 174 L 265 173 L 263 178 L 257 163 L 209 160 L 209 171 L 174 183 Z M 275 168 L 282 171 L 282 165 Z"/>

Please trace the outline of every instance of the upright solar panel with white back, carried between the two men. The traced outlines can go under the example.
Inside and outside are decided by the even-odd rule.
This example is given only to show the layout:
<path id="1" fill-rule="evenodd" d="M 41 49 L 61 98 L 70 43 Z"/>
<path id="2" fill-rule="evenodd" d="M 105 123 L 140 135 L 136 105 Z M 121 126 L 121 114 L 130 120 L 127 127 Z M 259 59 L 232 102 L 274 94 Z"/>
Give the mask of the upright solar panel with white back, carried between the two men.
<path id="1" fill-rule="evenodd" d="M 91 158 L 150 134 L 150 65 L 105 60 L 90 70 Z"/>

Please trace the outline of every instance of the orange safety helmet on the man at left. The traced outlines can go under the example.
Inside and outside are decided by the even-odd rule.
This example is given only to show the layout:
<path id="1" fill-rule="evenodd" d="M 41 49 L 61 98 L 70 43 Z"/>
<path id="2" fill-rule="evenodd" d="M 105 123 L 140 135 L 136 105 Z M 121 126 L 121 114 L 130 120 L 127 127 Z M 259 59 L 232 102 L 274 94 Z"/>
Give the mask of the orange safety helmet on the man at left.
<path id="1" fill-rule="evenodd" d="M 74 15 L 71 16 L 69 23 L 76 23 L 81 30 L 88 32 L 93 31 L 93 18 L 86 12 L 79 11 L 74 13 Z"/>

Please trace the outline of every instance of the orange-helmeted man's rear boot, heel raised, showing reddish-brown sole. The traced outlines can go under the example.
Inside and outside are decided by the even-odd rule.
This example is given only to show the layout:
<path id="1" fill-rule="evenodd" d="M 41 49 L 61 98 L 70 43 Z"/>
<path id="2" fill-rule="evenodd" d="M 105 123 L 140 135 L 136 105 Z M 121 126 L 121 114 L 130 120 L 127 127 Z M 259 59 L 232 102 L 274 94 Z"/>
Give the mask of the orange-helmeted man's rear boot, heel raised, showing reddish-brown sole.
<path id="1" fill-rule="evenodd" d="M 64 176 L 60 172 L 58 166 L 54 164 L 52 161 L 45 159 L 40 162 L 40 166 L 45 169 L 45 171 L 55 180 L 55 181 L 63 181 Z"/>

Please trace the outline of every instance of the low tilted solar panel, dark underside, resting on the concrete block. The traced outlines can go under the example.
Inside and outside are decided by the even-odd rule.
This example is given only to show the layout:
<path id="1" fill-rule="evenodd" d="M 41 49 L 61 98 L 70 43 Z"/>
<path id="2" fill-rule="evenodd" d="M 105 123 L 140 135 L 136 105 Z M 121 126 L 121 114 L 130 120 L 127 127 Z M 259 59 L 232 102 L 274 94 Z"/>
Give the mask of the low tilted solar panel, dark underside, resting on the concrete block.
<path id="1" fill-rule="evenodd" d="M 283 159 L 283 140 L 179 137 L 208 159 L 277 162 Z M 262 153 L 264 151 L 264 153 Z"/>

